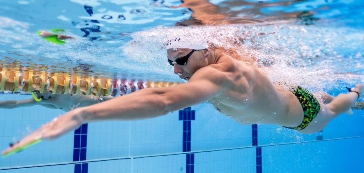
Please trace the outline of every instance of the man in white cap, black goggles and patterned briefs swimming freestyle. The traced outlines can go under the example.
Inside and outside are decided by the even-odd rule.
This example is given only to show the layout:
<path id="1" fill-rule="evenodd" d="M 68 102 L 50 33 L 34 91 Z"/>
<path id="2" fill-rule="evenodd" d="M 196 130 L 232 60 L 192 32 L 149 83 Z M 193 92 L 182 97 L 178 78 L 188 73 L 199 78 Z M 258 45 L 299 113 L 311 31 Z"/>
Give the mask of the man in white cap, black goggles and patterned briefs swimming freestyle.
<path id="1" fill-rule="evenodd" d="M 192 44 L 189 40 L 192 39 L 172 39 L 166 47 L 166 63 L 187 83 L 145 88 L 75 108 L 43 125 L 3 154 L 38 139 L 56 139 L 84 123 L 155 118 L 206 101 L 241 124 L 276 124 L 301 133 L 315 133 L 349 110 L 363 95 L 363 85 L 357 84 L 351 92 L 324 104 L 305 88 L 296 86 L 287 90 L 274 85 L 259 68 L 213 48 L 207 42 Z"/>

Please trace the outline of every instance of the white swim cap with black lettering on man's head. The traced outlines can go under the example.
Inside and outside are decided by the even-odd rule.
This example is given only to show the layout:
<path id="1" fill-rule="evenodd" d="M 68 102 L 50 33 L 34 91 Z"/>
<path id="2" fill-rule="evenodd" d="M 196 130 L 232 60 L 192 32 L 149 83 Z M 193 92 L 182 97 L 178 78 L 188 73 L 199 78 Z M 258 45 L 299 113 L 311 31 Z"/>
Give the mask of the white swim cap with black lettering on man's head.
<path id="1" fill-rule="evenodd" d="M 166 41 L 166 49 L 171 48 L 187 48 L 187 49 L 195 49 L 195 50 L 201 50 L 208 48 L 209 45 L 204 40 L 189 40 L 186 38 L 174 38 Z"/>

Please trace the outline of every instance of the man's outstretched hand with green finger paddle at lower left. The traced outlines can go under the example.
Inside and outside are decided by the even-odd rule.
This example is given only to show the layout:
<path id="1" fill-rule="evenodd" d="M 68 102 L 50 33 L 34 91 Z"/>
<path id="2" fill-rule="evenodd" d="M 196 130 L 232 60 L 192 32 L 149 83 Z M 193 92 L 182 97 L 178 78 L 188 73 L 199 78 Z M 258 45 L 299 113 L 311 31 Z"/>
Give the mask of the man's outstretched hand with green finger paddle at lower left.
<path id="1" fill-rule="evenodd" d="M 82 110 L 83 109 L 80 108 L 71 110 L 64 115 L 55 118 L 51 122 L 44 124 L 42 127 L 37 129 L 37 131 L 5 149 L 2 152 L 2 155 L 7 156 L 9 153 L 13 153 L 13 151 L 27 148 L 30 146 L 29 144 L 34 143 L 34 141 L 56 139 L 76 128 L 79 128 L 83 123 L 83 118 L 80 116 Z"/>

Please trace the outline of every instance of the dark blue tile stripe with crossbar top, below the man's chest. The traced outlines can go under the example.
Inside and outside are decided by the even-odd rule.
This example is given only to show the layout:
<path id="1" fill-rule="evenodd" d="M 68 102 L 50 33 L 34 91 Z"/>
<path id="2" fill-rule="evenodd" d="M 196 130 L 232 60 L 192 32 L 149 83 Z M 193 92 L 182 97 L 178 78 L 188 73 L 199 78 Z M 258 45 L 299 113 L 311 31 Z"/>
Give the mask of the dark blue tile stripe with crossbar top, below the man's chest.
<path id="1" fill-rule="evenodd" d="M 195 120 L 195 110 L 191 107 L 179 110 L 178 120 L 183 121 L 182 152 L 191 151 L 191 120 Z M 186 154 L 186 173 L 194 173 L 195 154 Z"/>

